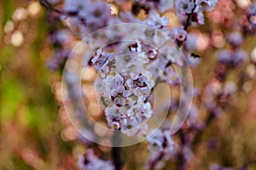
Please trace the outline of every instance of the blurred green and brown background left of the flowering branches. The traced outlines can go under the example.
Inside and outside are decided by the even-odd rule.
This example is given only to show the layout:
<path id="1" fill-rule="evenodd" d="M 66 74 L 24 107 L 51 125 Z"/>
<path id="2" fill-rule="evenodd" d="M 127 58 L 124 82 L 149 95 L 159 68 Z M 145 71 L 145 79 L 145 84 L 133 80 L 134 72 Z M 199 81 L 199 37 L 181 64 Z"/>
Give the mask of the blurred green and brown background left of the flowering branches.
<path id="1" fill-rule="evenodd" d="M 46 66 L 52 53 L 46 20 L 38 1 L 0 2 L 1 170 L 76 167 L 52 93 L 58 76 Z"/>

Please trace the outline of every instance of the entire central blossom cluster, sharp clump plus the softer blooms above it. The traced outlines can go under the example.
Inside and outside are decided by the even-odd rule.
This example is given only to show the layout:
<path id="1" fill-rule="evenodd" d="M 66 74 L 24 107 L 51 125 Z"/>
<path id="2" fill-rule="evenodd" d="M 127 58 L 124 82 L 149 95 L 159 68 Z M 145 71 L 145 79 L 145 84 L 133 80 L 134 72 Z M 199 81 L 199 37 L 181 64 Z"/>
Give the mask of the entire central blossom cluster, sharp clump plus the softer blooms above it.
<path id="1" fill-rule="evenodd" d="M 173 85 L 179 82 L 177 73 L 168 65 L 170 61 L 159 50 L 148 48 L 141 42 L 123 46 L 122 50 L 128 54 L 117 55 L 107 52 L 106 48 L 99 48 L 91 57 L 90 64 L 99 73 L 96 91 L 101 94 L 100 102 L 108 126 L 128 136 L 136 133 L 141 136 L 148 129 L 144 122 L 153 114 L 148 99 L 155 81 L 166 80 Z M 172 60 L 174 63 L 175 59 Z"/>

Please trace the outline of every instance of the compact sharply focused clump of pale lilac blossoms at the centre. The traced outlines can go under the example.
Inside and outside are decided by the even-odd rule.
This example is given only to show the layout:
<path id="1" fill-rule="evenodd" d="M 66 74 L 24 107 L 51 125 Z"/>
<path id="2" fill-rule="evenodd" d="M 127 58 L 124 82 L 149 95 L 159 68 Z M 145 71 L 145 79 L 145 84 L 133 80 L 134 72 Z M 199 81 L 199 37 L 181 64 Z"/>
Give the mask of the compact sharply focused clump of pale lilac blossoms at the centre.
<path id="1" fill-rule="evenodd" d="M 119 61 L 120 59 L 117 58 L 114 63 L 119 65 Z M 102 70 L 113 71 L 112 74 L 116 71 L 113 68 L 102 68 Z M 101 102 L 108 125 L 115 130 L 137 127 L 152 115 L 151 104 L 147 102 L 147 99 L 154 87 L 154 81 L 150 79 L 149 72 L 148 75 L 143 75 L 127 71 L 114 76 L 110 72 L 106 78 L 99 78 L 96 82 L 97 85 L 100 85 L 96 86 L 96 89 L 102 94 Z"/>

